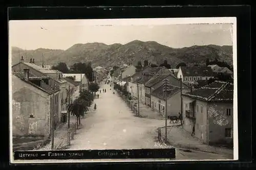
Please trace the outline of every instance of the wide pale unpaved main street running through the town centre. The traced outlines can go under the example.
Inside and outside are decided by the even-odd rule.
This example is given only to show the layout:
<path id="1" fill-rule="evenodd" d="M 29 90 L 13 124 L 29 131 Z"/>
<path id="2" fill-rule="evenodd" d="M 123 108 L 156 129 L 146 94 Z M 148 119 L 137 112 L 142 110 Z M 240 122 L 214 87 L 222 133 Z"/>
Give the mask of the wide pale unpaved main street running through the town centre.
<path id="1" fill-rule="evenodd" d="M 102 89 L 106 89 L 106 93 L 103 93 Z M 103 84 L 100 90 L 99 99 L 94 100 L 97 109 L 88 113 L 86 118 L 81 119 L 83 128 L 75 135 L 70 148 L 67 150 L 166 147 L 156 142 L 156 129 L 165 125 L 164 120 L 136 117 L 118 94 L 113 94 L 113 87 Z M 230 156 L 215 153 L 184 152 L 182 149 L 176 149 L 176 160 L 232 159 Z"/>

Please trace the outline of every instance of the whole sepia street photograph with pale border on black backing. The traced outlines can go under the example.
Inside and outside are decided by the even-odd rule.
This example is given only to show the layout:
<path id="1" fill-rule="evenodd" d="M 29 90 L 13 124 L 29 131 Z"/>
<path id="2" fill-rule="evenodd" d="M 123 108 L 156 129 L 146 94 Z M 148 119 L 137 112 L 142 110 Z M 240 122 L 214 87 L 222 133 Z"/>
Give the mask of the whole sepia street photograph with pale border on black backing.
<path id="1" fill-rule="evenodd" d="M 238 160 L 236 35 L 236 17 L 10 20 L 11 162 Z M 141 149 L 175 156 L 100 157 Z"/>

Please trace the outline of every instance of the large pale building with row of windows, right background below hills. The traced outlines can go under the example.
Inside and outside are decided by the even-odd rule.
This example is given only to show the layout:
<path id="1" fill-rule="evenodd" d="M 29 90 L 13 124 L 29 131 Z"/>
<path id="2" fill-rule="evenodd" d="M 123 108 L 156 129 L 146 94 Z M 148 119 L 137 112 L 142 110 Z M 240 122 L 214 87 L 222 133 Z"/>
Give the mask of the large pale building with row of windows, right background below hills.
<path id="1" fill-rule="evenodd" d="M 194 85 L 197 80 L 209 80 L 210 78 L 214 78 L 214 72 L 211 67 L 208 66 L 181 66 L 177 78 L 181 78 L 182 81 L 188 85 Z"/>

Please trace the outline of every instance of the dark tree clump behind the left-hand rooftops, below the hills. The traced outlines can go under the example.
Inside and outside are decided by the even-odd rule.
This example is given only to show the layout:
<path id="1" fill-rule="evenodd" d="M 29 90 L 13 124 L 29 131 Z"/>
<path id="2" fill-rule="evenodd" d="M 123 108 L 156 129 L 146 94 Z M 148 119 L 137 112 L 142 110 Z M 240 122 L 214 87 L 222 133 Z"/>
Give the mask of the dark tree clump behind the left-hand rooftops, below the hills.
<path id="1" fill-rule="evenodd" d="M 59 70 L 63 73 L 82 73 L 87 76 L 90 82 L 94 81 L 93 77 L 93 68 L 92 63 L 75 63 L 70 69 L 68 68 L 66 63 L 60 62 L 56 66 L 53 66 L 52 69 Z"/>

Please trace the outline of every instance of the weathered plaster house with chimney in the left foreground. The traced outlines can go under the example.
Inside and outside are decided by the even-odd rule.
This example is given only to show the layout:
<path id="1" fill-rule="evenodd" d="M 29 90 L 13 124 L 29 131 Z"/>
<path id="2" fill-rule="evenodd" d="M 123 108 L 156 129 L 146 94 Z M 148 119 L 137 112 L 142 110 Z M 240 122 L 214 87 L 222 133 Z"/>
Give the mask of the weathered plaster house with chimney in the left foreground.
<path id="1" fill-rule="evenodd" d="M 57 126 L 60 89 L 47 85 L 48 77 L 30 77 L 29 69 L 11 75 L 12 136 L 50 136 L 50 117 Z"/>

